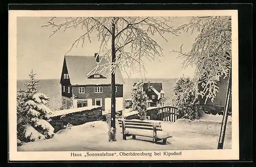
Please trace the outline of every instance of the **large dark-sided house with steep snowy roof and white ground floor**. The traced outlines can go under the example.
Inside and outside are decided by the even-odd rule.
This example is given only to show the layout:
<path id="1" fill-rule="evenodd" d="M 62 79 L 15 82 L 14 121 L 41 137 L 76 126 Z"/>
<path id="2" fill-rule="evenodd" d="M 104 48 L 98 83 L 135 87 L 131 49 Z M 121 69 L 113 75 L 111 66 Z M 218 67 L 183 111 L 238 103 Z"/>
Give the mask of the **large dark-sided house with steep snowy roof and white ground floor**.
<path id="1" fill-rule="evenodd" d="M 94 73 L 94 68 L 108 63 L 100 56 L 65 56 L 61 73 L 62 104 L 66 109 L 86 106 L 102 106 L 103 111 L 111 110 L 111 75 L 110 70 Z M 100 66 L 98 70 L 102 69 Z M 119 68 L 115 71 L 116 110 L 123 109 L 123 78 Z M 76 96 L 74 98 L 74 96 Z"/>

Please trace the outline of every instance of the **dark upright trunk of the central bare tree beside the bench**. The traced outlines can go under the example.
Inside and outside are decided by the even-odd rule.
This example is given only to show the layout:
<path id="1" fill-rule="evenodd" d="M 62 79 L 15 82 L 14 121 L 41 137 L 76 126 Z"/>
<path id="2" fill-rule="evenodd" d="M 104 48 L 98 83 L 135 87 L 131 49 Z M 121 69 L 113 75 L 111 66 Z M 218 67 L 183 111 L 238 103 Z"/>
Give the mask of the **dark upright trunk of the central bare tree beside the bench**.
<path id="1" fill-rule="evenodd" d="M 112 22 L 112 64 L 116 61 L 115 53 L 115 23 Z M 111 128 L 109 141 L 116 141 L 116 81 L 115 69 L 111 69 Z"/>

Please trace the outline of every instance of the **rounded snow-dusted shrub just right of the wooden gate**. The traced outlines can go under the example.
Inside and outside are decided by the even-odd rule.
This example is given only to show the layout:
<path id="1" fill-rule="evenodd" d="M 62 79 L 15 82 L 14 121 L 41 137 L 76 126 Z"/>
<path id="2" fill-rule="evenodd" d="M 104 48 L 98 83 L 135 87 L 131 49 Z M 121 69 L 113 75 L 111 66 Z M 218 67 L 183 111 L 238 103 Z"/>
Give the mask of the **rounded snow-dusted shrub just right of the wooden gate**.
<path id="1" fill-rule="evenodd" d="M 174 85 L 174 97 L 172 103 L 177 107 L 177 118 L 185 118 L 187 120 L 199 119 L 200 106 L 194 104 L 195 86 L 189 78 L 180 78 Z"/>

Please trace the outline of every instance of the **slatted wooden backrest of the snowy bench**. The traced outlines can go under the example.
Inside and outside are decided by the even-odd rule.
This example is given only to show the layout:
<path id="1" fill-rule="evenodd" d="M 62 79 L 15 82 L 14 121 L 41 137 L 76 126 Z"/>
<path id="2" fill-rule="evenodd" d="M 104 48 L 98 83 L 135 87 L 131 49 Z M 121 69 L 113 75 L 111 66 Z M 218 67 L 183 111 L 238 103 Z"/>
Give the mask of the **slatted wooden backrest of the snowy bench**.
<path id="1" fill-rule="evenodd" d="M 151 123 L 146 121 L 135 121 L 135 120 L 123 120 L 125 124 L 125 128 L 132 129 L 143 129 L 143 130 L 152 130 L 156 128 L 156 131 L 162 131 L 162 127 L 160 123 Z M 122 128 L 122 120 L 118 120 L 119 126 Z"/>

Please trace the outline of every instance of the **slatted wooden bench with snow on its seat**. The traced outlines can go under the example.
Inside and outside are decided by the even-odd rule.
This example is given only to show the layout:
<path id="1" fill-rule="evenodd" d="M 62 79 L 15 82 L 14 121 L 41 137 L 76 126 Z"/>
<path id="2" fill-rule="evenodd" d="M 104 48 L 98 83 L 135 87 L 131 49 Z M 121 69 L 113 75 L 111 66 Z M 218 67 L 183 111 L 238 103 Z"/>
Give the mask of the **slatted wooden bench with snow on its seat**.
<path id="1" fill-rule="evenodd" d="M 123 140 L 126 140 L 127 136 L 132 136 L 136 139 L 137 136 L 152 137 L 153 143 L 163 140 L 163 144 L 166 144 L 166 140 L 170 136 L 168 133 L 164 133 L 160 123 L 152 123 L 139 120 L 118 120 L 119 126 L 122 128 Z"/>

